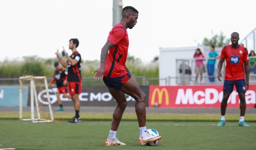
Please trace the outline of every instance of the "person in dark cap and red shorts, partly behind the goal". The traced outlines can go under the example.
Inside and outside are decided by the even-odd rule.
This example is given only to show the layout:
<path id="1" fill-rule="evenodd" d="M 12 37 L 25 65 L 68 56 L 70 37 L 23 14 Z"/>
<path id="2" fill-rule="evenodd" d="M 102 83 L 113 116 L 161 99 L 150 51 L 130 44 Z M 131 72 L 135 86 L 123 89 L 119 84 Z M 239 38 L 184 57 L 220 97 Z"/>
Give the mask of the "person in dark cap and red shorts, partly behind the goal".
<path id="1" fill-rule="evenodd" d="M 60 100 L 60 94 L 63 94 L 63 97 L 67 97 L 69 99 L 71 99 L 71 95 L 67 94 L 67 84 L 68 84 L 68 73 L 67 71 L 65 71 L 65 69 L 61 68 L 59 66 L 58 62 L 54 63 L 54 67 L 55 67 L 55 71 L 54 71 L 54 77 L 52 79 L 52 81 L 49 83 L 49 87 L 52 86 L 52 84 L 56 81 L 56 85 L 58 88 L 58 93 L 56 94 L 57 96 L 57 102 L 59 104 L 59 109 L 57 109 L 57 111 L 63 111 L 64 108 L 62 106 L 62 102 Z"/>

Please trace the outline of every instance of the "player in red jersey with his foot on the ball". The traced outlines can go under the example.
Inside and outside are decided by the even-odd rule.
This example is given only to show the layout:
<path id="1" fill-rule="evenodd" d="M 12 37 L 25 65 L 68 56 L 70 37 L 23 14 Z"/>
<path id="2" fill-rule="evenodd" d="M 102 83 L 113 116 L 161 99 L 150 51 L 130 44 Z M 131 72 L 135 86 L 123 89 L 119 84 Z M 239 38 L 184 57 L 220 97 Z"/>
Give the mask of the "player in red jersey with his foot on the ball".
<path id="1" fill-rule="evenodd" d="M 147 133 L 146 129 L 146 95 L 126 67 L 129 39 L 127 28 L 132 29 L 138 19 L 139 12 L 132 6 L 126 6 L 122 10 L 121 21 L 114 25 L 108 35 L 105 45 L 101 49 L 100 67 L 96 71 L 94 78 L 103 79 L 109 92 L 116 100 L 117 104 L 113 112 L 111 130 L 105 145 L 126 145 L 116 137 L 118 125 L 121 121 L 127 106 L 126 96 L 130 95 L 136 100 L 135 110 L 139 122 L 140 137 L 139 142 L 145 145 L 161 139 L 161 136 L 153 136 Z"/>

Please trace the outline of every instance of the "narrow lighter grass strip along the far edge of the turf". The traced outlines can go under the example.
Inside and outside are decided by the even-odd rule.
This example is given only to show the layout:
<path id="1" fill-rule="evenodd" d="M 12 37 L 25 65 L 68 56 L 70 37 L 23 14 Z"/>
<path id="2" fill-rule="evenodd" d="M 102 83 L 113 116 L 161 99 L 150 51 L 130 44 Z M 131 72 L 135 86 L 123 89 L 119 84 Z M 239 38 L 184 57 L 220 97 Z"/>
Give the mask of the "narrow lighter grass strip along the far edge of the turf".
<path id="1" fill-rule="evenodd" d="M 35 113 L 35 117 L 37 114 Z M 50 118 L 49 113 L 43 113 L 42 118 Z M 69 120 L 74 116 L 73 112 L 54 112 L 55 120 Z M 86 121 L 112 120 L 112 112 L 81 112 L 80 116 Z M 30 112 L 24 112 L 23 118 L 30 118 Z M 0 112 L 0 119 L 19 119 L 19 112 Z M 176 113 L 148 113 L 148 121 L 219 121 L 219 113 L 176 114 Z M 136 121 L 135 113 L 124 113 L 122 120 Z M 238 121 L 239 114 L 226 114 L 226 121 Z M 246 122 L 256 122 L 256 114 L 246 114 Z"/>

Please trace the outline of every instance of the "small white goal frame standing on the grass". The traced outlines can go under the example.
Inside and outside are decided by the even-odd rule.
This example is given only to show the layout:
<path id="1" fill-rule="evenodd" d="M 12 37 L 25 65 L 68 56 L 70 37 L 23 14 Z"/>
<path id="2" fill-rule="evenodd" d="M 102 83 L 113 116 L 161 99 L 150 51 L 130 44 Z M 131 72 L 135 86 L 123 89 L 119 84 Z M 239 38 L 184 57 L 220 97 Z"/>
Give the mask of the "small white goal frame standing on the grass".
<path id="1" fill-rule="evenodd" d="M 49 112 L 51 115 L 51 120 L 49 119 L 42 119 L 40 115 L 39 110 L 39 104 L 38 104 L 38 98 L 37 98 L 37 90 L 35 87 L 35 81 L 34 79 L 43 79 L 46 89 L 46 95 L 47 95 L 47 101 L 49 106 Z M 24 80 L 30 80 L 30 108 L 31 108 L 31 118 L 23 118 L 23 105 L 22 105 L 22 84 Z M 34 105 L 35 103 L 35 105 Z M 37 117 L 34 117 L 34 107 L 36 107 L 37 110 Z M 22 76 L 19 77 L 19 120 L 20 121 L 32 121 L 33 123 L 44 123 L 44 122 L 53 122 L 53 110 L 52 110 L 52 104 L 49 98 L 49 89 L 48 84 L 45 76 Z"/>

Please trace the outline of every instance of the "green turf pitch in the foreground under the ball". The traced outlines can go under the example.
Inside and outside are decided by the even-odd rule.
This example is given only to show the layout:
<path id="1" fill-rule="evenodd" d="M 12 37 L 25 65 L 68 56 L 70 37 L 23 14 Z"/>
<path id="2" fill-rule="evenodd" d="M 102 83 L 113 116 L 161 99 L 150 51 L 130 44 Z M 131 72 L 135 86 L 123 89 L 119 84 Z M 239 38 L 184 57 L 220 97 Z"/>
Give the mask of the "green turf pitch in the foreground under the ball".
<path id="1" fill-rule="evenodd" d="M 0 148 L 17 150 L 255 150 L 256 123 L 239 127 L 238 122 L 147 121 L 162 139 L 156 146 L 139 144 L 137 121 L 122 120 L 117 132 L 126 146 L 105 146 L 111 121 L 88 121 L 71 124 L 67 120 L 54 123 L 31 123 L 0 119 Z"/>

